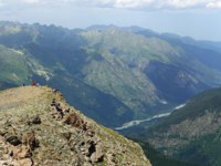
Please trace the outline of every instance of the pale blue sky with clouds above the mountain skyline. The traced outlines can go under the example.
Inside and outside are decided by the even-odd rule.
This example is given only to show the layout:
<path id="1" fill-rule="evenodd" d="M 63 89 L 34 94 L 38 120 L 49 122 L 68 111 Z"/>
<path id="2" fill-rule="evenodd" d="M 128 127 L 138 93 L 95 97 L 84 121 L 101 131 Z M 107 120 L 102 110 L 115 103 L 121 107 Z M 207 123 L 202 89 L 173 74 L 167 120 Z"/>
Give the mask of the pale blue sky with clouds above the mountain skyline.
<path id="1" fill-rule="evenodd" d="M 221 0 L 0 0 L 0 20 L 70 29 L 138 25 L 221 41 Z"/>

